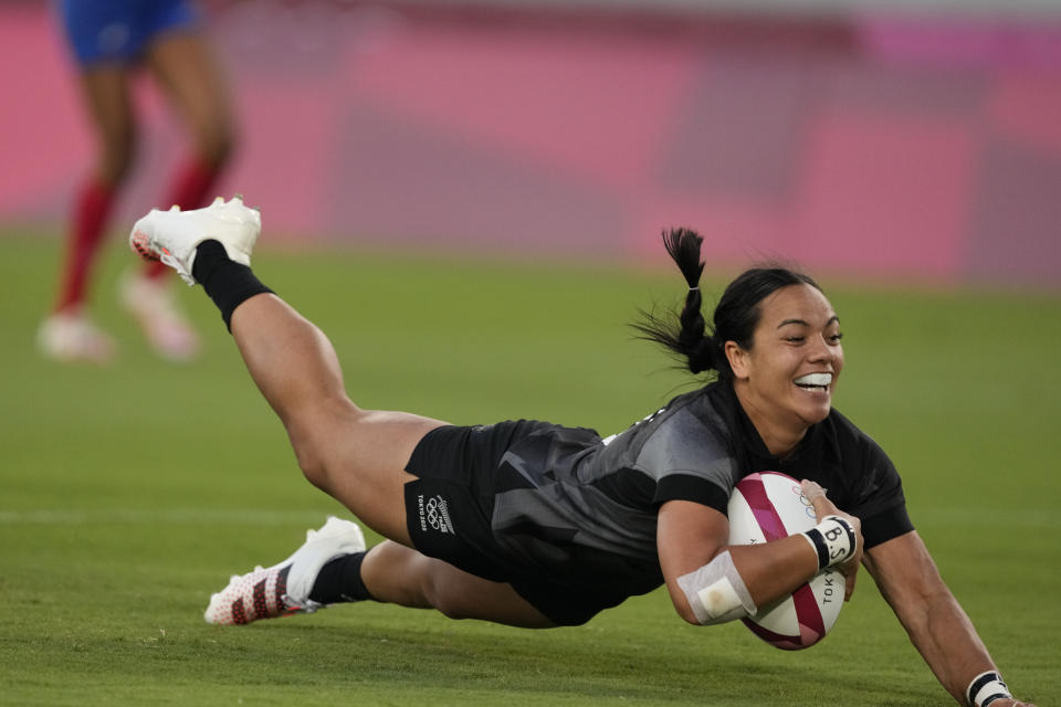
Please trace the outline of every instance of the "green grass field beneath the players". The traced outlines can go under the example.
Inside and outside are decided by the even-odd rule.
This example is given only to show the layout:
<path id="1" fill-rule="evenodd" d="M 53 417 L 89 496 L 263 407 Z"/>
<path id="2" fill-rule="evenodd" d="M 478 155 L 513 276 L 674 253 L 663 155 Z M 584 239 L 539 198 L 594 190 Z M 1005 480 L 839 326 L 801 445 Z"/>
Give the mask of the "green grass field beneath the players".
<path id="1" fill-rule="evenodd" d="M 301 476 L 216 310 L 195 365 L 157 360 L 114 306 L 108 368 L 38 358 L 59 244 L 0 238 L 0 704 L 953 704 L 863 573 L 833 633 L 777 651 L 684 624 L 662 592 L 578 629 L 522 631 L 365 604 L 246 627 L 202 621 L 233 572 L 294 549 L 335 502 Z M 686 390 L 634 341 L 676 273 L 282 253 L 255 270 L 328 333 L 364 407 L 456 423 L 618 431 Z M 890 452 L 911 515 L 1010 686 L 1061 695 L 1061 297 L 827 289 L 845 331 L 837 407 Z"/>

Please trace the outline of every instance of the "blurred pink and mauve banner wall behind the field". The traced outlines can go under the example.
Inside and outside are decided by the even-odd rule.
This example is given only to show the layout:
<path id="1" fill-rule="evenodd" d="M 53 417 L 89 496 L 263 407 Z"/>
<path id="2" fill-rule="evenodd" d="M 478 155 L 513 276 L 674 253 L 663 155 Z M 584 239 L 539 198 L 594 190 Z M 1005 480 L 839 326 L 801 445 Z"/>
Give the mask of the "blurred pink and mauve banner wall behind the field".
<path id="1" fill-rule="evenodd" d="M 1061 25 L 222 6 L 270 240 L 1061 284 Z M 92 159 L 46 6 L 0 6 L 0 219 L 61 228 Z M 140 92 L 122 207 L 181 134 Z M 120 223 L 116 224 L 117 226 Z"/>

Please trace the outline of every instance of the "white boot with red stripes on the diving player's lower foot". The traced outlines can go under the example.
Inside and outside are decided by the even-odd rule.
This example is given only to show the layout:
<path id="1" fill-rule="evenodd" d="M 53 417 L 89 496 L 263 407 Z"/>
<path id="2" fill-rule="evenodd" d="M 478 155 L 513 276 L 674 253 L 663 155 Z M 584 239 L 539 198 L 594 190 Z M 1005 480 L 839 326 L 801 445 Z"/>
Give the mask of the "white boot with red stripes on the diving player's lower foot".
<path id="1" fill-rule="evenodd" d="M 309 599 L 321 568 L 337 557 L 364 551 L 358 525 L 329 516 L 319 530 L 307 530 L 305 544 L 283 562 L 233 574 L 229 585 L 210 598 L 203 618 L 207 623 L 232 625 L 313 613 L 326 605 Z"/>

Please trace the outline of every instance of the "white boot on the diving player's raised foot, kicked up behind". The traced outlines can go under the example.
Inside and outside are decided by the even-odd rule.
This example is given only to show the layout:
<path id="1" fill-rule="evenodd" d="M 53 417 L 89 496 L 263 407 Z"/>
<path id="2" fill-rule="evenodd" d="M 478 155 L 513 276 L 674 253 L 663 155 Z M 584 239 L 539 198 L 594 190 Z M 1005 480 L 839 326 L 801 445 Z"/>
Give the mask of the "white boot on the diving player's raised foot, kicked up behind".
<path id="1" fill-rule="evenodd" d="M 230 260 L 250 265 L 251 251 L 261 230 L 261 213 L 244 207 L 243 197 L 237 194 L 229 201 L 218 197 L 204 209 L 151 209 L 133 225 L 129 247 L 145 260 L 162 261 L 191 286 L 196 284 L 191 266 L 197 245 L 212 239 L 224 246 Z"/>

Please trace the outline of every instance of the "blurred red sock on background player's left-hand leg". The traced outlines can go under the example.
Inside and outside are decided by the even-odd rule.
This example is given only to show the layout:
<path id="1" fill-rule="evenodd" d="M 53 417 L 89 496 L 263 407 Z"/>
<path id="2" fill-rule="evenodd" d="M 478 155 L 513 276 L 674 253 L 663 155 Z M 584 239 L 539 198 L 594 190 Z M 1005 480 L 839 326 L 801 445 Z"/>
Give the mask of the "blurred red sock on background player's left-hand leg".
<path id="1" fill-rule="evenodd" d="M 55 312 L 72 309 L 84 300 L 88 275 L 103 242 L 114 194 L 114 187 L 94 177 L 84 182 L 77 192 Z"/>

